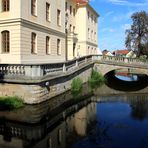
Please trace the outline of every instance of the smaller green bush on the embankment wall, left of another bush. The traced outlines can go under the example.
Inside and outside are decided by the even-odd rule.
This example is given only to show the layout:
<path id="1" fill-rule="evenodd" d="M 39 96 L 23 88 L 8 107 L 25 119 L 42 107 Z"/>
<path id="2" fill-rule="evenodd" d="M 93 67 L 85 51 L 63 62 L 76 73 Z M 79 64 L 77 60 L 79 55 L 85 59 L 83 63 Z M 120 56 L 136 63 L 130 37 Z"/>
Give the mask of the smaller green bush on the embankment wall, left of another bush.
<path id="1" fill-rule="evenodd" d="M 71 91 L 72 93 L 80 93 L 82 90 L 82 80 L 80 78 L 75 78 L 71 84 Z"/>

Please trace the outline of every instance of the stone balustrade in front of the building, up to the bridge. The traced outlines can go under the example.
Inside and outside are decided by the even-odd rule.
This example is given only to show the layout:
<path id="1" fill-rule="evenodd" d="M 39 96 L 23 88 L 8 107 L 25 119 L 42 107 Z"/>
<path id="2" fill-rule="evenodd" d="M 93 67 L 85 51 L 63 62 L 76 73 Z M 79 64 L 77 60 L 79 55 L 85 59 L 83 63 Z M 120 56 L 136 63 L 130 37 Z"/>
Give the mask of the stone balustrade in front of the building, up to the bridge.
<path id="1" fill-rule="evenodd" d="M 92 62 L 92 56 L 80 57 L 63 63 L 0 64 L 0 79 L 39 79 L 73 71 Z"/>

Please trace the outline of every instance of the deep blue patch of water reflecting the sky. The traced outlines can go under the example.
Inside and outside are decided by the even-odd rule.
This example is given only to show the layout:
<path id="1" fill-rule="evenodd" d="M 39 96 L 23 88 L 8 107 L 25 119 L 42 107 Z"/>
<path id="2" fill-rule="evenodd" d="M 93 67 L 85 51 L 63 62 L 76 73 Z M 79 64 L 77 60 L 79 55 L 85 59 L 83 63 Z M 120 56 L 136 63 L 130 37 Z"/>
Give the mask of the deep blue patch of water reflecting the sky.
<path id="1" fill-rule="evenodd" d="M 135 117 L 134 106 L 127 102 L 97 103 L 96 124 L 86 137 L 75 142 L 72 147 L 147 148 L 147 107 L 139 108 Z"/>

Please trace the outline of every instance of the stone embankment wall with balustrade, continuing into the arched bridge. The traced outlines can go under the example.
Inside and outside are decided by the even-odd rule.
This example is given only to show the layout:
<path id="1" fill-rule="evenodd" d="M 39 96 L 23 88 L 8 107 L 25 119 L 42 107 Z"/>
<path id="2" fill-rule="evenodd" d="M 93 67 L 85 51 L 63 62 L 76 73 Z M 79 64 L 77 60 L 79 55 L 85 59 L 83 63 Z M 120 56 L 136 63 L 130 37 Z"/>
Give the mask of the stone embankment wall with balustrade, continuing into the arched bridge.
<path id="1" fill-rule="evenodd" d="M 69 90 L 77 76 L 87 82 L 93 67 L 102 74 L 130 69 L 148 75 L 147 65 L 147 61 L 140 59 L 99 55 L 63 63 L 0 64 L 0 95 L 18 95 L 26 103 L 39 103 Z"/>

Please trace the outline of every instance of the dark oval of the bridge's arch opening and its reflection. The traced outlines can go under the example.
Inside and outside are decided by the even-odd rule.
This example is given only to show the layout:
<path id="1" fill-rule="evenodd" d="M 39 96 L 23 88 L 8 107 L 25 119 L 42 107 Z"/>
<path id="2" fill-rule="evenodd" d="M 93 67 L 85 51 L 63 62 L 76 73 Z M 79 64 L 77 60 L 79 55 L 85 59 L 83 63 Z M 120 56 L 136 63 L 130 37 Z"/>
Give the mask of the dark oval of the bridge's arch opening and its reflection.
<path id="1" fill-rule="evenodd" d="M 131 69 L 116 69 L 105 74 L 106 85 L 120 91 L 138 91 L 148 86 L 148 76 Z"/>

